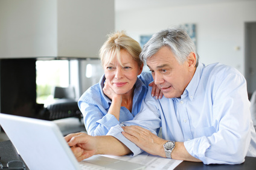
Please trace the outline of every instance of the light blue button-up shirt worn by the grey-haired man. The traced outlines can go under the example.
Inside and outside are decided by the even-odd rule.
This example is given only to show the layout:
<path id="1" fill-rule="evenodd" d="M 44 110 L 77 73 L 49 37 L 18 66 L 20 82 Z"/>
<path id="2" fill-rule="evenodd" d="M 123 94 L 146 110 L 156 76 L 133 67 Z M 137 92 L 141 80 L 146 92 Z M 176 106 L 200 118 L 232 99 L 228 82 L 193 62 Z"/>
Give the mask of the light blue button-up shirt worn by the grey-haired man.
<path id="1" fill-rule="evenodd" d="M 249 111 L 246 80 L 223 64 L 199 63 L 180 98 L 156 100 L 151 88 L 141 112 L 131 121 L 112 127 L 107 135 L 123 142 L 135 156 L 142 152 L 121 135 L 121 126 L 139 125 L 162 138 L 184 142 L 191 156 L 205 164 L 236 164 L 256 156 L 256 135 Z"/>

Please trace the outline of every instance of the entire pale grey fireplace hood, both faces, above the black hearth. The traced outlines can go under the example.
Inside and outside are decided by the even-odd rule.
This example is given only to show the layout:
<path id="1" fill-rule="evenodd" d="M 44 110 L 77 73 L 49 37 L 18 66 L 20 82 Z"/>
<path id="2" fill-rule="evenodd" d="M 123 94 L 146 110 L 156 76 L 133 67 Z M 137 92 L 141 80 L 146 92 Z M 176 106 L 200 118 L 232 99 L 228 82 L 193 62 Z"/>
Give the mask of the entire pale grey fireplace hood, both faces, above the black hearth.
<path id="1" fill-rule="evenodd" d="M 97 58 L 114 15 L 114 0 L 0 0 L 0 58 Z"/>

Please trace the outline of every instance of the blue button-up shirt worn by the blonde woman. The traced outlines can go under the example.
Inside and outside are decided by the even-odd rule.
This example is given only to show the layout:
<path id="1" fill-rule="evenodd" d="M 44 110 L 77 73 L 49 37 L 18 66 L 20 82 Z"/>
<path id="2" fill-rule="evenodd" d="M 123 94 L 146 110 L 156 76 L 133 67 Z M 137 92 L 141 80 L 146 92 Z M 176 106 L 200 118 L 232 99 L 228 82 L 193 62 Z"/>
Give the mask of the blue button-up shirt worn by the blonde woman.
<path id="1" fill-rule="evenodd" d="M 118 121 L 114 115 L 107 114 L 111 100 L 103 93 L 105 79 L 103 75 L 100 82 L 86 90 L 78 100 L 78 107 L 83 114 L 86 131 L 92 136 L 106 135 L 110 127 L 132 120 L 140 111 L 142 100 L 149 89 L 149 83 L 153 81 L 150 73 L 142 72 L 138 76 L 133 92 L 132 112 L 122 106 Z"/>

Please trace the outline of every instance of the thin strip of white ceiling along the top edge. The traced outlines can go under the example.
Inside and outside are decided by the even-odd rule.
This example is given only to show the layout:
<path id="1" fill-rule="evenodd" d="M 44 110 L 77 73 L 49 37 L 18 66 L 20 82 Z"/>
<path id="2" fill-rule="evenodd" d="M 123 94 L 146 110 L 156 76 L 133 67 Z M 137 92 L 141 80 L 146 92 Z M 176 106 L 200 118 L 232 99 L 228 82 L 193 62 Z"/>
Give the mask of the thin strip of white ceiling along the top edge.
<path id="1" fill-rule="evenodd" d="M 255 1 L 255 0 L 115 0 L 115 10 L 137 10 L 145 8 L 161 8 L 185 5 L 215 4 L 223 2 Z"/>

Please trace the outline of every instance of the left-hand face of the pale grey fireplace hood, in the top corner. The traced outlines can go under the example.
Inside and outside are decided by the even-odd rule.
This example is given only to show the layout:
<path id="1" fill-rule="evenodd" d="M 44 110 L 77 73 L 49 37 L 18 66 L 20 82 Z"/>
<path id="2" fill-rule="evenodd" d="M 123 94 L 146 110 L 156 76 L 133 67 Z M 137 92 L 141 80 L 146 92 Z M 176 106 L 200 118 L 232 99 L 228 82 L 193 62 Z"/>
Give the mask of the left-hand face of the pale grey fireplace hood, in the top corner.
<path id="1" fill-rule="evenodd" d="M 57 3 L 0 1 L 0 58 L 56 56 Z"/>

